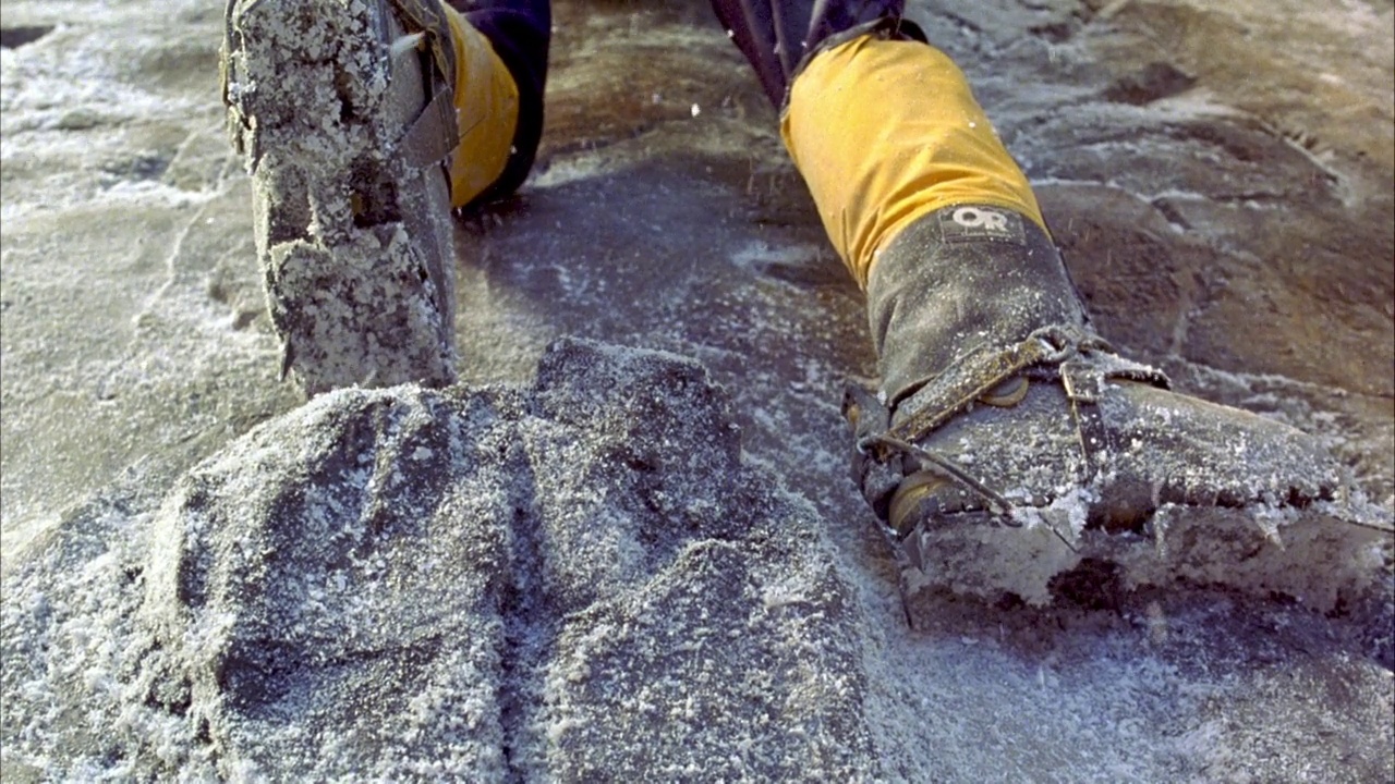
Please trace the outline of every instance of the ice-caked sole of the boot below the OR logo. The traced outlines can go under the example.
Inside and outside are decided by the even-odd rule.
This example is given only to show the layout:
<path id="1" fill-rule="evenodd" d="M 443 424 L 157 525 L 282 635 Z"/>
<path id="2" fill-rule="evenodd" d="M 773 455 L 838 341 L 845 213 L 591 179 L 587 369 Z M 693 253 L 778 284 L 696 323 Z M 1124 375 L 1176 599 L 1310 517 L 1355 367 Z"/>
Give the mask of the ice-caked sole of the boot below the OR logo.
<path id="1" fill-rule="evenodd" d="M 1070 515 L 1070 502 L 1023 527 L 1004 527 L 986 512 L 949 515 L 911 534 L 921 537 L 919 564 L 893 543 L 903 596 L 947 590 L 1050 605 L 1069 590 L 1063 583 L 1088 572 L 1101 591 L 1212 586 L 1327 612 L 1377 589 L 1391 547 L 1388 516 L 1366 502 L 1165 505 L 1145 532 L 1091 529 L 1076 537 L 1066 533 Z"/>

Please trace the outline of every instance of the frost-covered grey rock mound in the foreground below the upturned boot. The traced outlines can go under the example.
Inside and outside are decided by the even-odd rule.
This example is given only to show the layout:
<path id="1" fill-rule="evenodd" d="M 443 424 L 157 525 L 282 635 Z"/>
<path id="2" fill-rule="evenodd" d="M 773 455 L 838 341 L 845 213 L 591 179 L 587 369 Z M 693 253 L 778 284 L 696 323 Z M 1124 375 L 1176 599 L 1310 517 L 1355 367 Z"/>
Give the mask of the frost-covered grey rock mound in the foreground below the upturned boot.
<path id="1" fill-rule="evenodd" d="M 60 529 L 4 593 L 8 771 L 877 771 L 812 511 L 667 354 L 562 342 L 531 389 L 324 395 L 152 515 Z"/>

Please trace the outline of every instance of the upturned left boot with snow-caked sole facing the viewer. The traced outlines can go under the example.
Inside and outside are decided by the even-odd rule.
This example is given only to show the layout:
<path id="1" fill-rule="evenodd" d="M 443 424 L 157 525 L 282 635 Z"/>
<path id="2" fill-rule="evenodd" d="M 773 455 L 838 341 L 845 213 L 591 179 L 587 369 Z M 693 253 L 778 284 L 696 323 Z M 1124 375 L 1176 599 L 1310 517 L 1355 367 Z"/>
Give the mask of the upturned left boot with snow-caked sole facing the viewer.
<path id="1" fill-rule="evenodd" d="M 232 0 L 222 53 L 282 374 L 453 371 L 455 52 L 437 0 Z"/>

